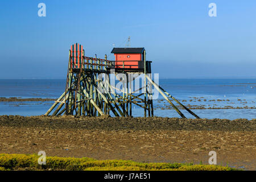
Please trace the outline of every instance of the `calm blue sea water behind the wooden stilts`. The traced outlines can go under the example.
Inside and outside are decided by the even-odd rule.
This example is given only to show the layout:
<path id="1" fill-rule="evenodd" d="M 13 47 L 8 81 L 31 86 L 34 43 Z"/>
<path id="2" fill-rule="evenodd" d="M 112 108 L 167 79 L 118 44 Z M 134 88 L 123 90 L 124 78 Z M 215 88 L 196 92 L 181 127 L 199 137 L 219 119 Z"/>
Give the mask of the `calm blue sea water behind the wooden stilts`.
<path id="1" fill-rule="evenodd" d="M 160 79 L 162 86 L 184 105 L 208 107 L 255 107 L 256 79 L 253 78 L 195 78 Z M 65 79 L 0 79 L 0 97 L 58 98 L 65 90 Z M 0 102 L 0 115 L 42 115 L 53 104 L 45 102 Z M 159 96 L 154 101 L 155 116 L 179 117 L 170 104 Z M 193 118 L 181 110 L 186 117 Z M 201 118 L 256 118 L 256 109 L 195 109 Z M 133 108 L 134 117 L 143 116 L 143 110 Z"/>

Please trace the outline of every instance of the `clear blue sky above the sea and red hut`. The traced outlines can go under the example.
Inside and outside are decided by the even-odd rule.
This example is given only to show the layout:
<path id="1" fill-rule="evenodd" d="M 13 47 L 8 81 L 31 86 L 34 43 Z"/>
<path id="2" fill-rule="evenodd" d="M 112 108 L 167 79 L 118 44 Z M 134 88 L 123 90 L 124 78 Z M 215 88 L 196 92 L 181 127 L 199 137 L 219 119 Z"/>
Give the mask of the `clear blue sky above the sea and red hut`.
<path id="1" fill-rule="evenodd" d="M 256 77 L 255 0 L 12 0 L 0 23 L 0 78 L 65 78 L 71 44 L 113 60 L 128 36 L 162 78 Z"/>

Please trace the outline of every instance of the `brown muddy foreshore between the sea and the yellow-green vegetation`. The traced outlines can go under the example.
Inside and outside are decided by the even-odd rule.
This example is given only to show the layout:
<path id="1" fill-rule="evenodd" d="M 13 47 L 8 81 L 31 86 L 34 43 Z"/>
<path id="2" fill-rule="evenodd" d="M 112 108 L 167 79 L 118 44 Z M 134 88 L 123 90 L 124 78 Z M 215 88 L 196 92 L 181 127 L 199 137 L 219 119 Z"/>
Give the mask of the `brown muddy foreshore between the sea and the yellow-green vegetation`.
<path id="1" fill-rule="evenodd" d="M 0 153 L 256 169 L 256 119 L 0 116 Z"/>

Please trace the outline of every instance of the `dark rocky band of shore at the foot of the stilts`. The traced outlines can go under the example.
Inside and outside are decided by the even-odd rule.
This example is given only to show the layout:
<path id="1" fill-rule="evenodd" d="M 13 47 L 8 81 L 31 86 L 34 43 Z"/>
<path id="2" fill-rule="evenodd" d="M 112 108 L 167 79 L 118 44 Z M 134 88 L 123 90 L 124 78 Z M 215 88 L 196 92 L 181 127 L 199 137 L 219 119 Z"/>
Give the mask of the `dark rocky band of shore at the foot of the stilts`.
<path id="1" fill-rule="evenodd" d="M 218 130 L 255 131 L 256 119 L 183 119 L 163 117 L 76 117 L 76 116 L 0 116 L 0 126 L 48 127 L 87 130 Z"/>

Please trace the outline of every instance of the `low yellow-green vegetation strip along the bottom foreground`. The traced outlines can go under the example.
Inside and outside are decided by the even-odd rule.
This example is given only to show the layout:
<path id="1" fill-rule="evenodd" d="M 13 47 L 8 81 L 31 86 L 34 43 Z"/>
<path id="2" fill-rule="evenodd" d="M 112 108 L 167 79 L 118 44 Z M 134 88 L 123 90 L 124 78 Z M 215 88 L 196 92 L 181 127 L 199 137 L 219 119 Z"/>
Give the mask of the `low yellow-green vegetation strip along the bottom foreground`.
<path id="1" fill-rule="evenodd" d="M 59 158 L 48 156 L 46 165 L 38 164 L 38 155 L 0 154 L 0 171 L 5 170 L 166 170 L 166 171 L 231 171 L 230 167 L 181 163 L 138 163 L 130 160 L 95 160 L 91 158 Z"/>

